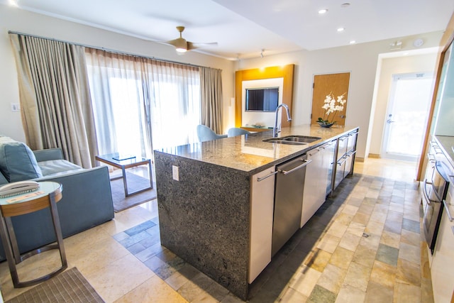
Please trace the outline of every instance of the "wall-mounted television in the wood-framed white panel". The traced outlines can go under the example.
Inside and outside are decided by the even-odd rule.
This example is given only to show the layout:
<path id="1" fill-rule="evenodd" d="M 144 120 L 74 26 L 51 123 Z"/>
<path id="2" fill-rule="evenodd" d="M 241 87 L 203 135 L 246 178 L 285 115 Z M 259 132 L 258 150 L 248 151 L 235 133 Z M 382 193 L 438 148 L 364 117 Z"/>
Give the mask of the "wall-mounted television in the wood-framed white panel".
<path id="1" fill-rule="evenodd" d="M 246 89 L 245 111 L 276 111 L 279 87 Z"/>

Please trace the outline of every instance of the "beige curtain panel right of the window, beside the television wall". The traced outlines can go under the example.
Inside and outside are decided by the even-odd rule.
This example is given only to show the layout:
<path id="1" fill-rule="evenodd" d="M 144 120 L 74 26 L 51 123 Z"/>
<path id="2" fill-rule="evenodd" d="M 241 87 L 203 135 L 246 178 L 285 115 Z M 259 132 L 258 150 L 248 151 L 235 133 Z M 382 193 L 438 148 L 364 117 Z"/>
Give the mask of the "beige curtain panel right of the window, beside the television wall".
<path id="1" fill-rule="evenodd" d="M 221 70 L 200 67 L 201 123 L 216 133 L 223 132 Z"/>

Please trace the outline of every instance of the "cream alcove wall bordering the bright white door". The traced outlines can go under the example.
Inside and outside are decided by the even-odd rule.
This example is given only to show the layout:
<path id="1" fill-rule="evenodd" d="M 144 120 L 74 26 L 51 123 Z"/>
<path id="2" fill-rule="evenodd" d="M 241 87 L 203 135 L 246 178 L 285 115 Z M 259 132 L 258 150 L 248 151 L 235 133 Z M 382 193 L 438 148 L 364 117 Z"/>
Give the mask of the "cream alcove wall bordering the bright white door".
<path id="1" fill-rule="evenodd" d="M 370 136 L 369 153 L 380 155 L 383 141 L 384 121 L 386 120 L 389 92 L 391 89 L 392 75 L 410 72 L 435 71 L 437 53 L 411 55 L 402 57 L 383 58 L 381 60 L 380 74 L 378 77 L 377 102 Z M 436 75 L 433 77 L 435 78 Z M 429 100 L 430 102 L 431 100 Z"/>

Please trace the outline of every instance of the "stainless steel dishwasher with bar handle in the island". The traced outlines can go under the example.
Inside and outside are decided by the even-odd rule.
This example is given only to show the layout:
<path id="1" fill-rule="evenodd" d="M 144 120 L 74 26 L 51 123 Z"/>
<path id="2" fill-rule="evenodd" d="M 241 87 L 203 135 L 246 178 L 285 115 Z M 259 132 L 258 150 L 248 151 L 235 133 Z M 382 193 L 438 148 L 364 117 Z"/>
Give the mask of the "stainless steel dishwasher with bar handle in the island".
<path id="1" fill-rule="evenodd" d="M 272 224 L 271 254 L 277 251 L 299 229 L 303 202 L 304 177 L 306 175 L 306 155 L 276 166 L 275 211 Z"/>

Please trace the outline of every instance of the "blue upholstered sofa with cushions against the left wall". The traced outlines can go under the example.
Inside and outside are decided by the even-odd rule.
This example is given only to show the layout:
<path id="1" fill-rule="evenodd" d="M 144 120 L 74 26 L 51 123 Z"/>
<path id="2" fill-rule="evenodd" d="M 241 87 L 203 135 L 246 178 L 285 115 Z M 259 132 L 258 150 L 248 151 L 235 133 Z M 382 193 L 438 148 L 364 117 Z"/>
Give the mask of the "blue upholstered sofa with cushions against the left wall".
<path id="1" fill-rule="evenodd" d="M 25 143 L 0 136 L 0 186 L 23 180 L 63 185 L 62 199 L 57 203 L 63 238 L 114 218 L 106 166 L 84 169 L 64 160 L 60 148 L 32 151 Z M 49 209 L 11 219 L 21 253 L 56 241 Z M 5 260 L 1 242 L 0 260 Z"/>

